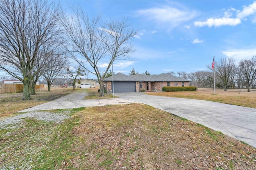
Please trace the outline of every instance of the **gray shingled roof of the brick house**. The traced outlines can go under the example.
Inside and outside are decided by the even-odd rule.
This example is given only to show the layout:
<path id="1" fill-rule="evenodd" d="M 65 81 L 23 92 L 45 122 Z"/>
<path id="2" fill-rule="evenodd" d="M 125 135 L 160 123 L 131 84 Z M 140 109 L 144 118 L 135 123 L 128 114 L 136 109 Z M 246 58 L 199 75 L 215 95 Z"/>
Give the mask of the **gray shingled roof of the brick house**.
<path id="1" fill-rule="evenodd" d="M 104 81 L 112 81 L 112 76 L 104 79 Z M 169 75 L 166 73 L 162 74 L 136 74 L 136 75 L 125 75 L 122 73 L 117 73 L 114 75 L 114 81 L 189 81 L 174 75 Z"/>

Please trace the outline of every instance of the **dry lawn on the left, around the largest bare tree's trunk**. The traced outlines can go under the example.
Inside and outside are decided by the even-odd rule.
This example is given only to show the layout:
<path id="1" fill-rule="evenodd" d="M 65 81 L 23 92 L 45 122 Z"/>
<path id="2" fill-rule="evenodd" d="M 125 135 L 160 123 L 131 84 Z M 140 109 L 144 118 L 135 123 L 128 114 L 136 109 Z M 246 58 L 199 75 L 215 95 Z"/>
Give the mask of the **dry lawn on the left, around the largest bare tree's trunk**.
<path id="1" fill-rule="evenodd" d="M 36 91 L 31 100 L 22 100 L 22 93 L 0 93 L 0 117 L 9 116 L 18 111 L 53 101 L 73 92 L 71 88 L 51 88 L 51 91 Z"/>

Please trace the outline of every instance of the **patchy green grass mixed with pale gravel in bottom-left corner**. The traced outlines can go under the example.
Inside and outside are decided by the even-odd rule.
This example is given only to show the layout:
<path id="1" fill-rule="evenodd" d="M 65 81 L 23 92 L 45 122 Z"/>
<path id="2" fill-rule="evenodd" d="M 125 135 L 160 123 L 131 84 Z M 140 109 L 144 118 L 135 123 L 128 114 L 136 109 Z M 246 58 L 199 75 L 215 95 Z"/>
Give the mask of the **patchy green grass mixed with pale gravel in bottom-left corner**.
<path id="1" fill-rule="evenodd" d="M 53 112 L 70 111 L 73 115 L 77 110 Z M 0 162 L 4 161 L 4 166 L 14 166 L 15 169 L 54 169 L 56 165 L 70 162 L 76 153 L 68 148 L 74 144 L 72 129 L 78 120 L 78 117 L 73 117 L 58 124 L 25 118 L 18 128 L 0 129 L 1 139 L 8 141 L 0 146 Z"/>

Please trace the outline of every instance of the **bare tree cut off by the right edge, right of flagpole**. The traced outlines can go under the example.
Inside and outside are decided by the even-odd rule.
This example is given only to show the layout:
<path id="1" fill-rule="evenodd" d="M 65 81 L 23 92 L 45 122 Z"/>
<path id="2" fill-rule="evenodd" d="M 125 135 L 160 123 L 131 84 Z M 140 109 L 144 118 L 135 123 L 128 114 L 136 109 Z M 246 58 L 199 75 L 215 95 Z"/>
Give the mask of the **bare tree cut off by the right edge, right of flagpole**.
<path id="1" fill-rule="evenodd" d="M 239 62 L 239 67 L 246 80 L 247 91 L 250 92 L 250 86 L 256 79 L 256 56 L 251 59 L 242 59 Z"/>

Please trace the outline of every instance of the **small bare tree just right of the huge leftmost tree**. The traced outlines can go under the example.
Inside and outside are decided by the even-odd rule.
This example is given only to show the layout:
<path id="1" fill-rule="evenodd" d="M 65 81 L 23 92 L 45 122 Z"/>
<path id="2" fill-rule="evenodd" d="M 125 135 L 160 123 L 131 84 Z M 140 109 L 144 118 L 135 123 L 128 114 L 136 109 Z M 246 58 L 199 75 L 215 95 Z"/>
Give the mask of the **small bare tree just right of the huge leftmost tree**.
<path id="1" fill-rule="evenodd" d="M 66 55 L 61 54 L 49 54 L 48 65 L 43 72 L 42 76 L 47 82 L 48 91 L 51 91 L 51 85 L 60 75 L 67 70 L 68 59 Z"/>

